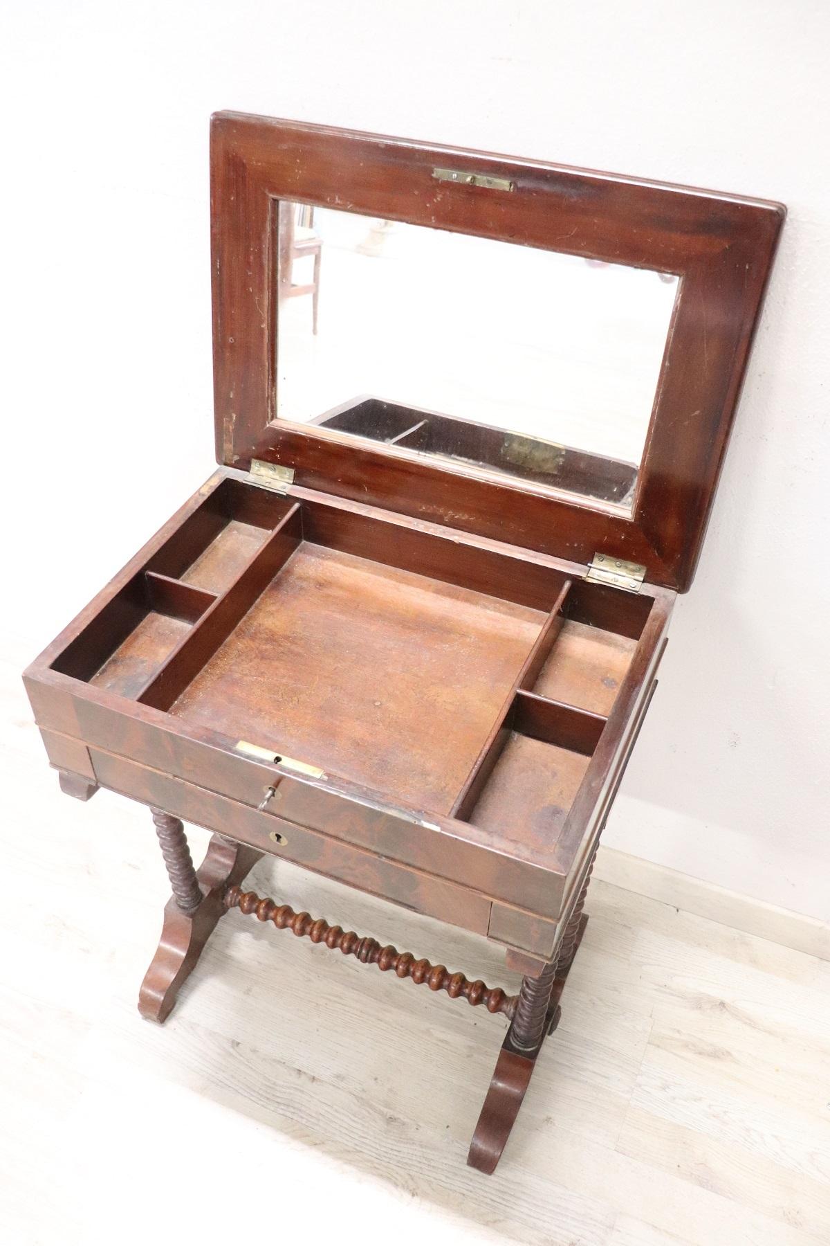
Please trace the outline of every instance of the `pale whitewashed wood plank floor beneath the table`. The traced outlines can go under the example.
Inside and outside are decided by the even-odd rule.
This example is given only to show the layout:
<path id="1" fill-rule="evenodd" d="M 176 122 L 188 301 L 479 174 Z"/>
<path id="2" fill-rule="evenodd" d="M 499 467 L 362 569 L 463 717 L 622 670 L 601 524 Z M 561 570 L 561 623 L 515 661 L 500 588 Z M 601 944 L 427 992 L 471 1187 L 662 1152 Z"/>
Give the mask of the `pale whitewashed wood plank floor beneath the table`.
<path id="1" fill-rule="evenodd" d="M 830 964 L 602 883 L 495 1176 L 464 1166 L 504 1022 L 220 923 L 168 1023 L 136 994 L 149 815 L 58 794 L 0 670 L 0 1241 L 818 1246 Z M 193 832 L 194 855 L 207 836 Z M 494 949 L 282 863 L 261 893 L 515 987 Z"/>

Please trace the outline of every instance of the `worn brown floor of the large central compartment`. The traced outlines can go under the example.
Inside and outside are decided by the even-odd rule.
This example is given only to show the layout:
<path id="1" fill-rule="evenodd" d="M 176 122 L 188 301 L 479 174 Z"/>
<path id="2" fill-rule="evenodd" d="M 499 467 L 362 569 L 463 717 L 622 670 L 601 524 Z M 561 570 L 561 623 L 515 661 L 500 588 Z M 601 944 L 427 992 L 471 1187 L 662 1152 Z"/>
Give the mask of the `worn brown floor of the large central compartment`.
<path id="1" fill-rule="evenodd" d="M 304 542 L 172 713 L 448 812 L 544 621 Z"/>

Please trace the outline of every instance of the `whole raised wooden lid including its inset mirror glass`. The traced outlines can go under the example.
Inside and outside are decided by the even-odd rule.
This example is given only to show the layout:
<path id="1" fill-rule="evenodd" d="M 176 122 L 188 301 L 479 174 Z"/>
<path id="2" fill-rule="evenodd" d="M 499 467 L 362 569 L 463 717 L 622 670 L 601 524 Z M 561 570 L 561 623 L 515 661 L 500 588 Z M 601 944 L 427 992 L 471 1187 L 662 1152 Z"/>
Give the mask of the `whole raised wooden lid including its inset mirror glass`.
<path id="1" fill-rule="evenodd" d="M 683 591 L 783 219 L 219 113 L 217 457 Z"/>

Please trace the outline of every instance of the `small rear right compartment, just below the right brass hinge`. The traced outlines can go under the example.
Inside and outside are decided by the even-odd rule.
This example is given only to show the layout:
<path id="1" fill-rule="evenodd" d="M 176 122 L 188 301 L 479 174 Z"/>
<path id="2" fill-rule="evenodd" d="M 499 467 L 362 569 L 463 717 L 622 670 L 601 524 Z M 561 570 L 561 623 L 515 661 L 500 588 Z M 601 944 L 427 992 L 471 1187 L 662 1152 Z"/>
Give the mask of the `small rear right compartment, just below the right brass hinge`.
<path id="1" fill-rule="evenodd" d="M 610 714 L 651 606 L 648 597 L 585 581 L 575 583 L 531 690 L 595 714 Z"/>

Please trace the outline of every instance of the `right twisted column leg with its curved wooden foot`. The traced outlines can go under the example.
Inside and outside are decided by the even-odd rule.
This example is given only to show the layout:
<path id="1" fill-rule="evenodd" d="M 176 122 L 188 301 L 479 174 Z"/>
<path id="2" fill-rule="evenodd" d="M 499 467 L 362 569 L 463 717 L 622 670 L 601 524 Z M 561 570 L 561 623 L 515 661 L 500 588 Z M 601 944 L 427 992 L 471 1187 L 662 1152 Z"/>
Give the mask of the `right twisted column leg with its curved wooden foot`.
<path id="1" fill-rule="evenodd" d="M 490 1174 L 495 1170 L 530 1085 L 545 1037 L 559 1024 L 561 1012 L 559 1001 L 587 926 L 587 916 L 582 907 L 592 868 L 594 860 L 565 927 L 556 959 L 550 961 L 538 977 L 525 976 L 521 979 L 513 1022 L 501 1044 L 467 1156 L 470 1168 L 480 1172 Z"/>

